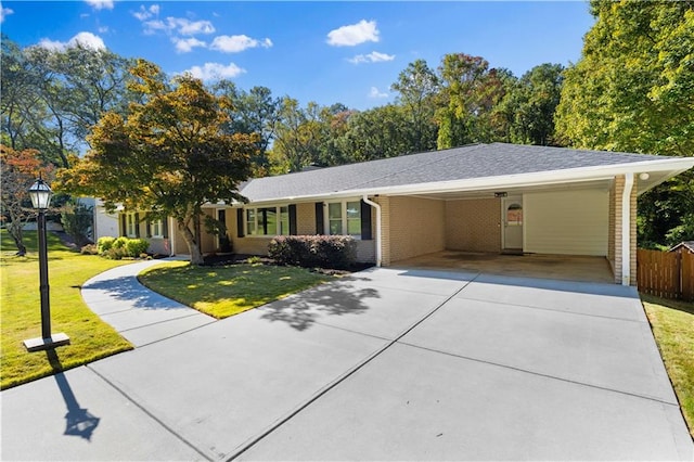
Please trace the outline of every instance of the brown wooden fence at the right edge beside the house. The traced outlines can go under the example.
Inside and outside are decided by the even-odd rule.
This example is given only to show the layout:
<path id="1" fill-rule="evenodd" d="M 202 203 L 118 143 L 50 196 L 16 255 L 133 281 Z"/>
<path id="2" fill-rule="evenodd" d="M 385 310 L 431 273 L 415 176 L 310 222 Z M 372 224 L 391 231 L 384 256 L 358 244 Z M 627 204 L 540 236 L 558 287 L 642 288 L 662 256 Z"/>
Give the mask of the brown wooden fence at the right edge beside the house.
<path id="1" fill-rule="evenodd" d="M 639 248 L 637 281 L 646 294 L 694 301 L 694 254 Z"/>

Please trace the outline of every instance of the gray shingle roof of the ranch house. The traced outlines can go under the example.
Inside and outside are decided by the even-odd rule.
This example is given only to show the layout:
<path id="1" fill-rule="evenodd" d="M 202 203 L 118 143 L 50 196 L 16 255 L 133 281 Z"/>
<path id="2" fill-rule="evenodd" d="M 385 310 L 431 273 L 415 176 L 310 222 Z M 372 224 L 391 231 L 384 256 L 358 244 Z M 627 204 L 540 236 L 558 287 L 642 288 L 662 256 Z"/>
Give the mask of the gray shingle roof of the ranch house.
<path id="1" fill-rule="evenodd" d="M 384 187 L 502 177 L 655 161 L 644 154 L 506 143 L 473 144 L 319 170 L 258 178 L 242 185 L 252 202 L 320 196 Z"/>

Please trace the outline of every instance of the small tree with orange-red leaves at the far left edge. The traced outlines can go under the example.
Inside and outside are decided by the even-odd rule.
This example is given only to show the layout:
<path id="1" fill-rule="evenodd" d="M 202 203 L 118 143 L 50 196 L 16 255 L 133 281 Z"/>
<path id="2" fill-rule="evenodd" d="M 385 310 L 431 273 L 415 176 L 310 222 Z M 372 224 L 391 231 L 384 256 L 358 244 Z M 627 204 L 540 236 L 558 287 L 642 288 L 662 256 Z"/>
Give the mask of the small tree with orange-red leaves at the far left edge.
<path id="1" fill-rule="evenodd" d="M 5 228 L 12 236 L 20 256 L 26 255 L 23 236 L 24 224 L 35 215 L 28 191 L 41 169 L 38 154 L 36 150 L 15 151 L 0 144 L 0 175 L 2 175 L 0 208 L 3 220 L 9 220 Z M 51 166 L 44 169 L 47 175 L 50 175 L 51 171 Z"/>

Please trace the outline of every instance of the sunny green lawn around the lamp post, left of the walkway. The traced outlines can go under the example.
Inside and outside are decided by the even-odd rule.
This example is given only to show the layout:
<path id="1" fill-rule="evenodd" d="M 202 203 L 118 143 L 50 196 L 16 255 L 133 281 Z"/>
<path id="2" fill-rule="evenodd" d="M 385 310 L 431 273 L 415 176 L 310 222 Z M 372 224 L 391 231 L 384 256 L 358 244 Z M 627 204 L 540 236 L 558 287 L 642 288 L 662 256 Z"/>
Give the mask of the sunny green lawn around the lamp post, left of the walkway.
<path id="1" fill-rule="evenodd" d="M 49 233 L 49 285 L 53 332 L 64 332 L 70 345 L 46 352 L 27 352 L 22 341 L 41 335 L 39 264 L 36 232 L 25 233 L 27 256 L 14 256 L 14 242 L 0 231 L 0 388 L 9 388 L 61 370 L 114 355 L 132 346 L 82 301 L 79 287 L 91 277 L 128 261 L 80 255 Z"/>

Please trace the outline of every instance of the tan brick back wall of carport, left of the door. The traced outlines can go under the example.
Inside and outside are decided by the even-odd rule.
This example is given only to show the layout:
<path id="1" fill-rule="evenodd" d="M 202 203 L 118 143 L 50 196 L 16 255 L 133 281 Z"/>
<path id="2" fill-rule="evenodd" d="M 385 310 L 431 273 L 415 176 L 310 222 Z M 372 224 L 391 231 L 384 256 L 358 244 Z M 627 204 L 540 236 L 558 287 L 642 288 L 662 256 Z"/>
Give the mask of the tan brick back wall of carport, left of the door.
<path id="1" fill-rule="evenodd" d="M 501 252 L 501 200 L 446 202 L 446 248 Z"/>

